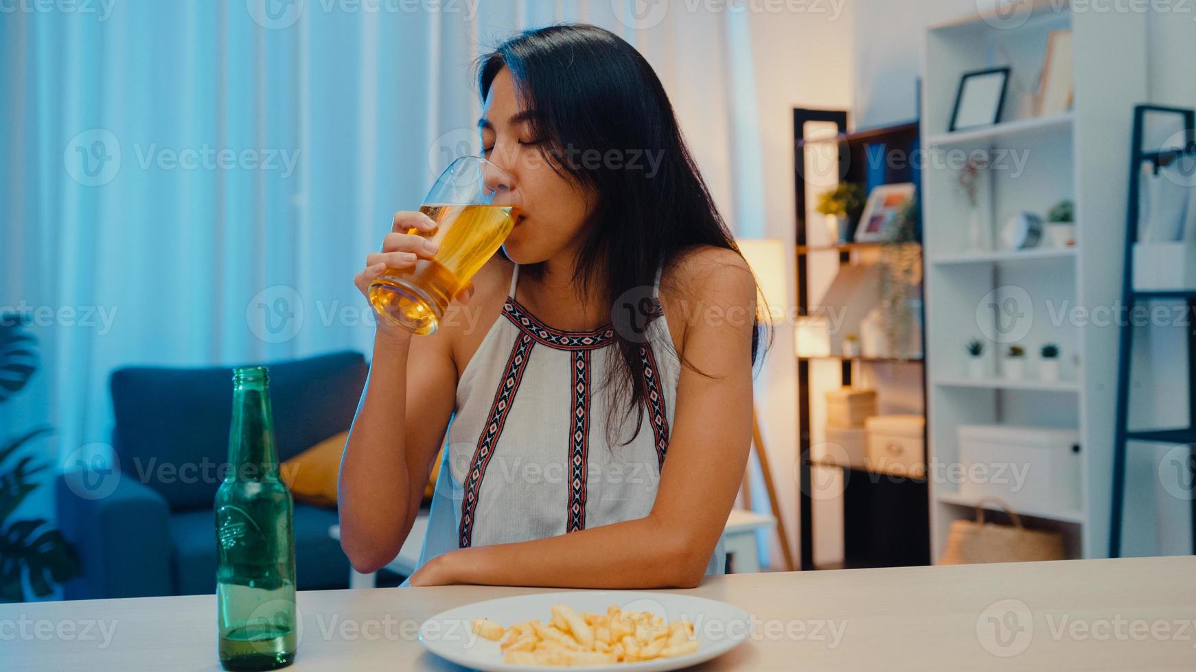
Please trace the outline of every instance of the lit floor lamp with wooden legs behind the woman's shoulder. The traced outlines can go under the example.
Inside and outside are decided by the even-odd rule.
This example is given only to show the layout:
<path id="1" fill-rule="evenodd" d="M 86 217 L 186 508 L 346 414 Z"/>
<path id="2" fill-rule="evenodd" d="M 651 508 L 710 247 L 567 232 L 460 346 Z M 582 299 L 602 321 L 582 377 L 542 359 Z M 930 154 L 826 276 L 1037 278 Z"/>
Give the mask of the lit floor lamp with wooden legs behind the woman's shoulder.
<path id="1" fill-rule="evenodd" d="M 785 272 L 785 242 L 777 239 L 763 239 L 763 240 L 737 240 L 736 243 L 739 246 L 739 252 L 743 253 L 744 259 L 748 260 L 748 265 L 751 266 L 752 273 L 756 276 L 756 283 L 759 285 L 761 295 L 764 301 L 757 302 L 761 304 L 758 310 L 761 320 L 771 321 L 771 314 L 777 313 L 785 314 L 783 308 L 788 306 L 787 291 L 788 283 L 786 282 L 787 275 Z M 764 309 L 764 303 L 771 310 Z M 773 508 L 773 517 L 776 518 L 776 536 L 780 541 L 781 554 L 785 557 L 785 569 L 792 572 L 793 566 L 793 551 L 789 550 L 789 536 L 785 531 L 785 519 L 781 518 L 781 506 L 776 499 L 776 487 L 773 483 L 773 470 L 769 468 L 768 463 L 768 450 L 764 448 L 764 437 L 759 431 L 759 419 L 756 414 L 756 406 L 752 405 L 751 409 L 751 445 L 752 450 L 756 451 L 756 458 L 759 461 L 759 470 L 764 481 L 764 489 L 768 493 L 768 503 Z M 748 507 L 751 508 L 751 489 L 749 488 L 750 480 L 750 463 L 748 471 L 744 473 L 744 498 L 748 501 Z"/>

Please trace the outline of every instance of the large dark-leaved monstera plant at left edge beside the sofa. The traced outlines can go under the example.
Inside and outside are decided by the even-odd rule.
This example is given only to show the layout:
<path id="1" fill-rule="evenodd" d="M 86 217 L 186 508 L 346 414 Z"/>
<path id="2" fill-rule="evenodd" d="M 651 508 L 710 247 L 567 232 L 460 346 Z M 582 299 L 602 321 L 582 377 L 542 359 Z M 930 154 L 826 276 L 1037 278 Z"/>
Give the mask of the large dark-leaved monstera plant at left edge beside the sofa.
<path id="1" fill-rule="evenodd" d="M 26 323 L 22 314 L 0 313 L 0 403 L 11 400 L 37 371 L 37 340 L 25 331 Z M 74 548 L 48 520 L 13 519 L 48 469 L 35 456 L 22 456 L 23 449 L 48 433 L 49 427 L 38 427 L 0 440 L 0 602 L 24 602 L 30 592 L 47 597 L 55 584 L 79 573 Z"/>

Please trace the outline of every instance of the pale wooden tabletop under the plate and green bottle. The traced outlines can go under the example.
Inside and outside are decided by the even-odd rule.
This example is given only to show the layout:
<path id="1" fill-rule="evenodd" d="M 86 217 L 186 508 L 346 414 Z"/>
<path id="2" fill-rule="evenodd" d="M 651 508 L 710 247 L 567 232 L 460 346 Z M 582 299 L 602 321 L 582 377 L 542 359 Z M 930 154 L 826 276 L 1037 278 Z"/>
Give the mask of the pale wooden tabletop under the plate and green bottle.
<path id="1" fill-rule="evenodd" d="M 292 668 L 454 668 L 423 651 L 419 623 L 530 591 L 542 588 L 300 592 Z M 687 592 L 759 619 L 751 640 L 703 670 L 1196 668 L 1192 556 L 732 574 Z M 1007 629 L 993 630 L 994 619 Z M 4 604 L 0 668 L 218 670 L 215 599 Z"/>

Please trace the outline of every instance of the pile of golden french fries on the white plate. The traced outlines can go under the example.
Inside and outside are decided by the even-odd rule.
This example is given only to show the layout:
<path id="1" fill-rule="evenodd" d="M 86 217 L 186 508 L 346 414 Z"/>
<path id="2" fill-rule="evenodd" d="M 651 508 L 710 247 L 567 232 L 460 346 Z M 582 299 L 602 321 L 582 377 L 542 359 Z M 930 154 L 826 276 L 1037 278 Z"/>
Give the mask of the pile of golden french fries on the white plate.
<path id="1" fill-rule="evenodd" d="M 697 651 L 694 624 L 666 623 L 651 611 L 623 611 L 618 605 L 606 614 L 578 614 L 566 604 L 550 608 L 553 618 L 539 618 L 504 628 L 489 618 L 475 618 L 474 631 L 499 641 L 504 661 L 512 665 L 608 665 L 687 655 Z"/>

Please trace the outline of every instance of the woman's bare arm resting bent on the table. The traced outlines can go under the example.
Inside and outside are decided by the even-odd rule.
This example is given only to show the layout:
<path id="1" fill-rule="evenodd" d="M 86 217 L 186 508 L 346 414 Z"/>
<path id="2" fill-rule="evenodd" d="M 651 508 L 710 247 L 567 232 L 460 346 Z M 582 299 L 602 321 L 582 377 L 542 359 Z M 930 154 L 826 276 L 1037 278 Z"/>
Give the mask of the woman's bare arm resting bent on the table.
<path id="1" fill-rule="evenodd" d="M 652 512 L 543 540 L 453 550 L 420 568 L 411 585 L 651 588 L 702 580 L 751 445 L 756 285 L 737 253 L 715 248 L 684 259 L 675 284 L 692 288 L 683 298 L 692 315 L 683 355 L 697 371 L 682 366 Z"/>

